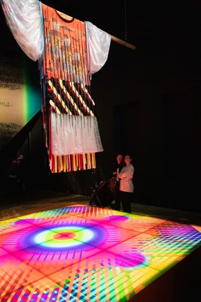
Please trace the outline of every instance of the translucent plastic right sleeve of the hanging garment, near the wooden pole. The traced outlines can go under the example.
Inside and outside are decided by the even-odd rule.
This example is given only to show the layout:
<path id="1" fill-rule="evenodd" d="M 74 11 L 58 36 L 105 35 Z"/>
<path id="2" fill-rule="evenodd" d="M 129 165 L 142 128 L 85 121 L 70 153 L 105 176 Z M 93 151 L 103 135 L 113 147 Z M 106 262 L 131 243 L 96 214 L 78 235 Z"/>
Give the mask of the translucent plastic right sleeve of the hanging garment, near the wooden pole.
<path id="1" fill-rule="evenodd" d="M 88 31 L 90 71 L 93 74 L 100 70 L 108 59 L 111 36 L 92 23 L 88 21 L 85 23 Z"/>

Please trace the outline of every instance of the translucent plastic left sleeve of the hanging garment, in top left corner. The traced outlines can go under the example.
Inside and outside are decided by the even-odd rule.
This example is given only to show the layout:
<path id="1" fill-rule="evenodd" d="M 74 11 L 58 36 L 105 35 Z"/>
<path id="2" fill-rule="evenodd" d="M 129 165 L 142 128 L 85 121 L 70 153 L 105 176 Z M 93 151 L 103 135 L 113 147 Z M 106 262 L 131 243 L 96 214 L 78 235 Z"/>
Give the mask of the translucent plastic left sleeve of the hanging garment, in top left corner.
<path id="1" fill-rule="evenodd" d="M 7 24 L 22 50 L 36 61 L 44 40 L 38 0 L 1 0 Z"/>

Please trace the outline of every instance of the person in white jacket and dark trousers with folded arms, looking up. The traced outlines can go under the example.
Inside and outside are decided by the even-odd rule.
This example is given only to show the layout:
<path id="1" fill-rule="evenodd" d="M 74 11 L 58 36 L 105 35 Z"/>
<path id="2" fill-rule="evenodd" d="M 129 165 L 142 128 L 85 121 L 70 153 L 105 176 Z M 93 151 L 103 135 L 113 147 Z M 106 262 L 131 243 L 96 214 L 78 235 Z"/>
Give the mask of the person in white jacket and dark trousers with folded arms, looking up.
<path id="1" fill-rule="evenodd" d="M 121 178 L 120 182 L 120 194 L 124 212 L 131 213 L 131 201 L 133 197 L 133 173 L 134 167 L 131 164 L 132 157 L 130 155 L 125 156 L 126 167 L 122 169 L 118 177 Z"/>

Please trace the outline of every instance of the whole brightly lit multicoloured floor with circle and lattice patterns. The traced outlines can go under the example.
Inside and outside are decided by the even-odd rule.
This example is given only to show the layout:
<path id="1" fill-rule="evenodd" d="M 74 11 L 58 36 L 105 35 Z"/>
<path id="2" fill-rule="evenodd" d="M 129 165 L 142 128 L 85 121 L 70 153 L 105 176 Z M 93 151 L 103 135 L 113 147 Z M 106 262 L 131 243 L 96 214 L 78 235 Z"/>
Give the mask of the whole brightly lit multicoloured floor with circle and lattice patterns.
<path id="1" fill-rule="evenodd" d="M 201 244 L 201 227 L 75 205 L 0 222 L 0 300 L 126 301 Z"/>

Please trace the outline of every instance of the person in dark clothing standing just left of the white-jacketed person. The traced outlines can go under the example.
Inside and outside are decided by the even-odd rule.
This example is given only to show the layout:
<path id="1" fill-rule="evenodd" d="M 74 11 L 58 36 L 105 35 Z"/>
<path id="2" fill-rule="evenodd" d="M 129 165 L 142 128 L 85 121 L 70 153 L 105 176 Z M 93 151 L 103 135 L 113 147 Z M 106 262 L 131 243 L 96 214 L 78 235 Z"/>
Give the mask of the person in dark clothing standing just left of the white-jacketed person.
<path id="1" fill-rule="evenodd" d="M 121 208 L 121 197 L 120 197 L 120 179 L 118 177 L 119 173 L 122 171 L 122 168 L 125 166 L 123 162 L 123 155 L 117 155 L 117 164 L 114 168 L 113 176 L 116 177 L 116 184 L 115 184 L 115 210 L 120 211 Z"/>

